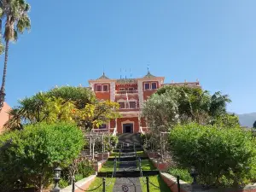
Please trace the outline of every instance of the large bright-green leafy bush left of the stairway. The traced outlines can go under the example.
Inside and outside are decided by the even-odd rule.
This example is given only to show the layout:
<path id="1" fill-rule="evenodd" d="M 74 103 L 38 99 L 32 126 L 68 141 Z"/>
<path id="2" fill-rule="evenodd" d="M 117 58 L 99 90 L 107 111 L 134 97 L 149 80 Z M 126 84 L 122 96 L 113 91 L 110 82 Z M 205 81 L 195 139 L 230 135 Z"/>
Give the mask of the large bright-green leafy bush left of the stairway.
<path id="1" fill-rule="evenodd" d="M 0 178 L 41 189 L 52 182 L 53 168 L 70 165 L 83 146 L 83 133 L 73 124 L 40 123 L 7 132 L 0 137 Z"/>

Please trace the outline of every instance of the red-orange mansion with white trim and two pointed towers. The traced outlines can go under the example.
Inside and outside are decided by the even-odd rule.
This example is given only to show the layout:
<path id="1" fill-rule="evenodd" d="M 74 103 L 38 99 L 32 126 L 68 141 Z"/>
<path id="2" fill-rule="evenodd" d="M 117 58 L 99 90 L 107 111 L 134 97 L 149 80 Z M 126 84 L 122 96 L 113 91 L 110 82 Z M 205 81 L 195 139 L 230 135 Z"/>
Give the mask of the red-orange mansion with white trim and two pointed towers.
<path id="1" fill-rule="evenodd" d="M 143 78 L 137 79 L 109 79 L 105 73 L 102 77 L 89 80 L 90 90 L 100 101 L 109 100 L 119 103 L 118 119 L 111 119 L 94 131 L 108 131 L 122 133 L 138 133 L 148 130 L 146 120 L 142 117 L 143 102 L 156 90 L 165 85 L 201 87 L 198 80 L 184 83 L 164 83 L 164 77 L 155 77 L 148 72 Z"/>

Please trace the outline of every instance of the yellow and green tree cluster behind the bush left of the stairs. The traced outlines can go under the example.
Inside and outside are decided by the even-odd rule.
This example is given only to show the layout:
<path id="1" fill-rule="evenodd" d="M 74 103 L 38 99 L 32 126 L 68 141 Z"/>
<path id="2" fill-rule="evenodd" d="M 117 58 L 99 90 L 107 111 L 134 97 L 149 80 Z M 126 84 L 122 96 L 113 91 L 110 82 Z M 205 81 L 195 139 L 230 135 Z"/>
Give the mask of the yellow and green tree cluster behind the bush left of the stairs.
<path id="1" fill-rule="evenodd" d="M 20 100 L 19 106 L 9 112 L 12 118 L 4 127 L 22 130 L 26 124 L 67 121 L 90 130 L 119 117 L 118 108 L 116 102 L 96 101 L 87 88 L 64 86 Z"/>

